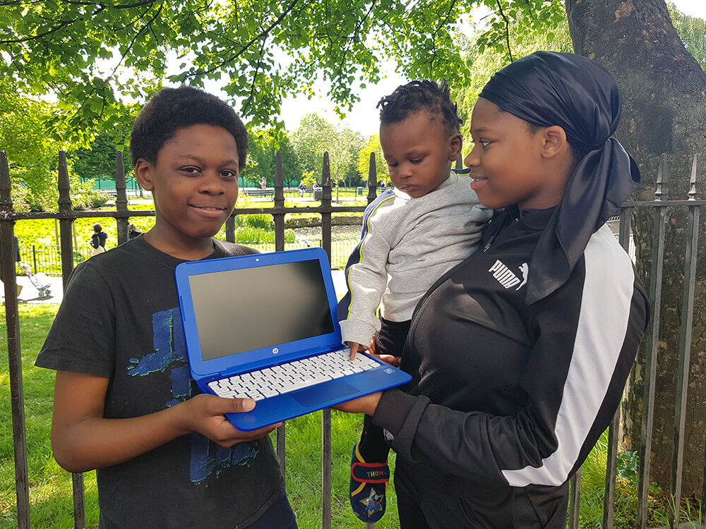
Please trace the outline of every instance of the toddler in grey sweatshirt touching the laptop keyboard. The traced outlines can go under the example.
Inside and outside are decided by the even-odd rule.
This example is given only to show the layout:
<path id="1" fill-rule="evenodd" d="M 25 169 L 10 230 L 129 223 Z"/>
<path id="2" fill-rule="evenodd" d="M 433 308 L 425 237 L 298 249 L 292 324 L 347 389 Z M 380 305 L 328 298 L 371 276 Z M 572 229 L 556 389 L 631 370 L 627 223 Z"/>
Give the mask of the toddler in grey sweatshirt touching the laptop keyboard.
<path id="1" fill-rule="evenodd" d="M 380 143 L 394 187 L 364 212 L 338 318 L 351 358 L 374 339 L 375 352 L 398 363 L 417 302 L 444 272 L 474 253 L 492 212 L 480 206 L 469 176 L 451 169 L 463 140 L 445 83 L 412 81 L 378 107 Z M 378 521 L 385 512 L 389 450 L 383 430 L 366 416 L 353 447 L 350 480 L 351 506 L 362 521 Z"/>

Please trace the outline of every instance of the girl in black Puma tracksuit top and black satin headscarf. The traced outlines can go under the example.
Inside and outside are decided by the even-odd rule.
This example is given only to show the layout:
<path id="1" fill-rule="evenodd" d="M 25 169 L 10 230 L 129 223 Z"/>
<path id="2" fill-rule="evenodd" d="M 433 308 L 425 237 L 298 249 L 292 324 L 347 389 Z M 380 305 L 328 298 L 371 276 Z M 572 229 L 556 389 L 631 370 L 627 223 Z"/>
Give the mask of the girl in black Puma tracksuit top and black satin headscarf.
<path id="1" fill-rule="evenodd" d="M 568 480 L 613 419 L 649 301 L 605 221 L 640 174 L 615 80 L 539 51 L 482 90 L 465 164 L 496 209 L 482 250 L 421 298 L 412 375 L 336 406 L 393 450 L 401 529 L 566 528 Z M 412 263 L 410 263 L 411 265 Z"/>

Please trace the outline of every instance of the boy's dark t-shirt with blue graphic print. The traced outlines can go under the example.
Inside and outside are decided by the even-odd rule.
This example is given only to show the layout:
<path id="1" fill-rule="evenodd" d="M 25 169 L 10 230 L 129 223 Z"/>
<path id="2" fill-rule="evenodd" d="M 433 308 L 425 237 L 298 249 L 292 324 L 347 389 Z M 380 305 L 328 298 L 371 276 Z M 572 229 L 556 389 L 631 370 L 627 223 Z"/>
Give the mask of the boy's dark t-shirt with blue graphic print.
<path id="1" fill-rule="evenodd" d="M 256 253 L 214 240 L 208 258 Z M 181 260 L 138 237 L 74 269 L 36 365 L 109 377 L 106 418 L 160 411 L 198 394 L 174 281 Z M 270 439 L 225 449 L 178 437 L 97 470 L 101 528 L 238 528 L 282 489 Z"/>

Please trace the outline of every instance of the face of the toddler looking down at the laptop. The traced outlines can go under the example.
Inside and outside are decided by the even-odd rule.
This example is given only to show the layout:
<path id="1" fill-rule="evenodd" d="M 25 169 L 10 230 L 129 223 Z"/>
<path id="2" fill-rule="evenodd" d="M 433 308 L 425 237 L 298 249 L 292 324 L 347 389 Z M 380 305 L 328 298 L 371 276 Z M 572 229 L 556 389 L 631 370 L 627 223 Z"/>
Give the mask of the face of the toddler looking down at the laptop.
<path id="1" fill-rule="evenodd" d="M 419 198 L 448 178 L 462 138 L 448 135 L 441 116 L 430 121 L 427 111 L 419 111 L 403 121 L 381 124 L 380 145 L 393 186 Z"/>

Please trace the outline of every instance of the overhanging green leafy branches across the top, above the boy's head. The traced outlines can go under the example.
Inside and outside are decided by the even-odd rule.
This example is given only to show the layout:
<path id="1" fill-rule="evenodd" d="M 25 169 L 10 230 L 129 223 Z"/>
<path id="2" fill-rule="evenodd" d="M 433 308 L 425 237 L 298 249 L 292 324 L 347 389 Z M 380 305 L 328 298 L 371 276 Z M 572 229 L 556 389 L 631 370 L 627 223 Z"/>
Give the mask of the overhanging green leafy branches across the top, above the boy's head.
<path id="1" fill-rule="evenodd" d="M 85 144 L 131 121 L 116 101 L 143 102 L 165 79 L 222 83 L 251 126 L 281 128 L 285 95 L 322 78 L 343 114 L 385 59 L 465 84 L 451 32 L 482 4 L 495 13 L 483 48 L 502 49 L 508 23 L 549 36 L 563 16 L 560 0 L 0 0 L 0 77 L 54 94 L 52 129 L 63 120 Z"/>

